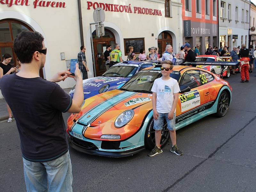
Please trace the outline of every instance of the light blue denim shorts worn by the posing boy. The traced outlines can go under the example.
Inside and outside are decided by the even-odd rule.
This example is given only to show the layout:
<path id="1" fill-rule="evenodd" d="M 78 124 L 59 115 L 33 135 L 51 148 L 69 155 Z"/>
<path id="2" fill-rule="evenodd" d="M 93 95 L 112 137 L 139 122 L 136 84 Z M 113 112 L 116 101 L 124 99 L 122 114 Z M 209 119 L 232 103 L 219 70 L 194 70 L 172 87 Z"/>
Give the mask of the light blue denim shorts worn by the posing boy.
<path id="1" fill-rule="evenodd" d="M 168 119 L 168 113 L 158 113 L 157 120 L 154 119 L 154 129 L 162 130 L 163 124 L 164 124 L 164 119 L 167 122 L 167 129 L 169 129 L 170 131 L 175 130 L 175 113 L 174 113 L 172 119 Z"/>

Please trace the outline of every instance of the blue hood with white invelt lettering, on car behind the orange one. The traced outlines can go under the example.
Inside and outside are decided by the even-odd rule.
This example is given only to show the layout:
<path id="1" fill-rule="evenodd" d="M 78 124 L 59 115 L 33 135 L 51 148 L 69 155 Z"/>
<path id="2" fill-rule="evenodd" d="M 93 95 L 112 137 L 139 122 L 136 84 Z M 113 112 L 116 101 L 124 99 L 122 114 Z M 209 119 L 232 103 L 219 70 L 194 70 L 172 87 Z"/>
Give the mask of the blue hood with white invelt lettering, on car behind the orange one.
<path id="1" fill-rule="evenodd" d="M 84 99 L 92 97 L 96 94 L 99 94 L 99 90 L 104 85 L 109 84 L 108 90 L 113 90 L 114 87 L 117 87 L 119 84 L 125 83 L 130 78 L 127 77 L 106 77 L 106 76 L 98 76 L 92 77 L 89 79 L 83 80 L 83 90 L 84 90 Z M 75 89 L 69 92 L 69 95 L 73 97 Z"/>

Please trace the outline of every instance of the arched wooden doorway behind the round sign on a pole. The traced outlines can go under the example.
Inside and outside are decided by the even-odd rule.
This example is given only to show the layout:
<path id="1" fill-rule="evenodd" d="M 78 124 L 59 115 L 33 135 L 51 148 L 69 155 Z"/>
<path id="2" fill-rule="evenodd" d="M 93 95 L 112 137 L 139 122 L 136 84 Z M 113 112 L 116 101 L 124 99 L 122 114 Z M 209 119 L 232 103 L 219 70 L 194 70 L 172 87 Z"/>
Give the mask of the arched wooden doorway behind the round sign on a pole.
<path id="1" fill-rule="evenodd" d="M 114 34 L 105 28 L 105 36 L 98 37 L 96 31 L 92 32 L 92 42 L 94 49 L 94 57 L 96 62 L 96 76 L 102 75 L 106 71 L 104 52 L 106 51 L 106 46 L 110 44 L 112 50 L 114 49 L 114 44 L 116 42 Z"/>

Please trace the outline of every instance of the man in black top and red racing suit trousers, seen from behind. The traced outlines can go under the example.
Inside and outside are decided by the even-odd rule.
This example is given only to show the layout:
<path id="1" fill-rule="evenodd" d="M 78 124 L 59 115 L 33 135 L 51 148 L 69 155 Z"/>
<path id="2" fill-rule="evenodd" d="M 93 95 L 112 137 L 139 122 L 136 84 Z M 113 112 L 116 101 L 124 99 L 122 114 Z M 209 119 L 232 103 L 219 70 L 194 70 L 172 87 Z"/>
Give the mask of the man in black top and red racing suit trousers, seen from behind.
<path id="1" fill-rule="evenodd" d="M 249 61 L 250 61 L 250 58 L 249 58 L 249 52 L 250 50 L 249 49 L 246 49 L 246 45 L 243 43 L 242 44 L 242 49 L 240 50 L 240 62 L 241 62 L 241 83 L 244 83 L 244 82 L 249 82 L 249 79 L 250 79 L 250 76 L 249 76 Z M 245 75 L 245 78 L 244 78 L 244 75 Z M 244 79 L 246 79 L 244 81 Z"/>

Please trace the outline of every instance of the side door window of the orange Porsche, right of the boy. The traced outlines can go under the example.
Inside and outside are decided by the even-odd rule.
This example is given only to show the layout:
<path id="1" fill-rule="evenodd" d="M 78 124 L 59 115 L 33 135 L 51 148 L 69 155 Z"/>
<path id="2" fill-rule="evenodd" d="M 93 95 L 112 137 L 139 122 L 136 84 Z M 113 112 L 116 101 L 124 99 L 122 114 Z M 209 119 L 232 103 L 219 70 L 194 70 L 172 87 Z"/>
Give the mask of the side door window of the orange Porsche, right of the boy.
<path id="1" fill-rule="evenodd" d="M 190 89 L 196 88 L 202 85 L 200 75 L 201 74 L 199 70 L 186 71 L 181 77 L 180 85 L 189 86 Z"/>

